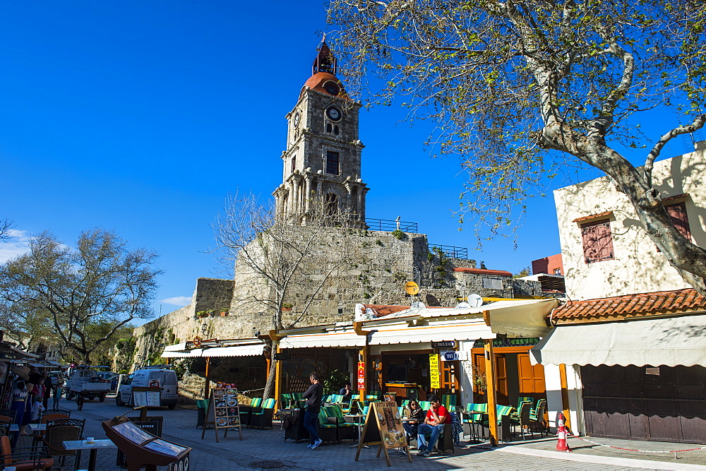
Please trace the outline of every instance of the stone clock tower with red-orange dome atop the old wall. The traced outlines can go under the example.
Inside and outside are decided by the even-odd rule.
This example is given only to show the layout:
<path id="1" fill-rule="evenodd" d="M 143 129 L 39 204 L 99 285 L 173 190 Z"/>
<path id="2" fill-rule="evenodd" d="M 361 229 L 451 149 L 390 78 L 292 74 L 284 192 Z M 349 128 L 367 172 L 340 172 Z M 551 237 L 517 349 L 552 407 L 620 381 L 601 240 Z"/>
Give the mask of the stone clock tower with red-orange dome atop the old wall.
<path id="1" fill-rule="evenodd" d="M 350 225 L 365 227 L 361 105 L 350 99 L 335 73 L 336 59 L 324 41 L 297 105 L 287 114 L 282 184 L 273 196 L 279 217 L 298 217 L 306 225 L 311 201 L 321 200 L 332 213 L 345 214 Z"/>

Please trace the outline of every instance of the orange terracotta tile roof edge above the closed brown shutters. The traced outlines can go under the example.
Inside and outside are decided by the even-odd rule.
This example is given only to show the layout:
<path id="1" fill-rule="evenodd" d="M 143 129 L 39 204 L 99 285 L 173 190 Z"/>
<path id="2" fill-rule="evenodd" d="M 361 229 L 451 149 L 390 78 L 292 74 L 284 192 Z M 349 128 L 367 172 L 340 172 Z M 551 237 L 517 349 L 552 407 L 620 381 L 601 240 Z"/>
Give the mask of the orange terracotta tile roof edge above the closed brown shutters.
<path id="1" fill-rule="evenodd" d="M 570 301 L 555 309 L 551 318 L 555 323 L 580 323 L 698 311 L 706 311 L 706 298 L 689 288 Z"/>

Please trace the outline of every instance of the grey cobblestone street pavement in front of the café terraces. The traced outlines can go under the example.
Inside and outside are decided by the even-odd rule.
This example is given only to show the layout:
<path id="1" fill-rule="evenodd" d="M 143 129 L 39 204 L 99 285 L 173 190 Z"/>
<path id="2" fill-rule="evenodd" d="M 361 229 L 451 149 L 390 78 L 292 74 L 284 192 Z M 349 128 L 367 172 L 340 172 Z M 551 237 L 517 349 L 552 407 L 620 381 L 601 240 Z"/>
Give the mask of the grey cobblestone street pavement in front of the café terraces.
<path id="1" fill-rule="evenodd" d="M 83 411 L 76 410 L 76 404 L 62 400 L 61 407 L 73 410 L 71 417 L 86 419 L 85 436 L 96 439 L 106 438 L 100 422 L 129 411 L 127 407 L 117 407 L 112 398 L 106 402 L 86 402 Z M 130 416 L 138 415 L 131 412 Z M 227 438 L 222 437 L 220 443 L 215 442 L 215 431 L 207 429 L 205 438 L 201 440 L 201 429 L 196 429 L 196 410 L 177 408 L 176 410 L 150 410 L 150 415 L 164 417 L 164 439 L 174 441 L 193 448 L 191 451 L 191 470 L 215 471 L 233 469 L 258 469 L 256 462 L 280 462 L 282 467 L 301 470 L 348 470 L 348 469 L 390 469 L 385 465 L 384 455 L 376 458 L 376 450 L 364 449 L 358 461 L 355 461 L 355 448 L 350 441 L 343 443 L 327 443 L 317 450 L 306 448 L 306 443 L 284 441 L 284 432 L 278 424 L 275 429 L 243 430 L 243 440 L 238 439 L 237 432 L 229 432 Z M 29 444 L 29 439 L 23 437 L 19 446 Z M 412 453 L 412 463 L 400 453 L 390 455 L 393 468 L 419 470 L 450 470 L 450 469 L 484 469 L 484 470 L 631 470 L 631 469 L 679 469 L 679 463 L 641 462 L 624 458 L 594 458 L 583 453 L 563 455 L 549 451 L 553 449 L 552 441 L 522 442 L 517 446 L 502 446 L 490 448 L 487 445 L 471 446 L 462 442 L 450 455 L 432 455 L 431 458 L 421 458 Z M 590 443 L 589 443 L 590 444 Z M 534 448 L 532 448 L 534 447 Z M 527 454 L 530 453 L 530 454 Z M 538 456 L 545 454 L 544 457 Z M 570 459 L 564 459 L 570 458 Z M 600 459 L 604 461 L 600 462 Z M 635 457 L 638 458 L 638 457 Z M 644 456 L 641 456 L 643 460 Z M 116 466 L 116 451 L 98 451 L 97 470 L 119 470 Z M 594 460 L 599 460 L 595 463 Z M 706 462 L 705 462 L 706 463 Z M 67 458 L 64 469 L 73 469 L 73 458 Z M 88 466 L 88 453 L 83 453 L 80 460 L 82 469 Z M 653 466 L 654 465 L 654 466 Z M 697 468 L 692 465 L 686 468 Z M 54 469 L 60 469 L 55 467 Z M 160 470 L 167 470 L 160 467 Z M 706 469 L 704 467 L 703 469 Z"/>

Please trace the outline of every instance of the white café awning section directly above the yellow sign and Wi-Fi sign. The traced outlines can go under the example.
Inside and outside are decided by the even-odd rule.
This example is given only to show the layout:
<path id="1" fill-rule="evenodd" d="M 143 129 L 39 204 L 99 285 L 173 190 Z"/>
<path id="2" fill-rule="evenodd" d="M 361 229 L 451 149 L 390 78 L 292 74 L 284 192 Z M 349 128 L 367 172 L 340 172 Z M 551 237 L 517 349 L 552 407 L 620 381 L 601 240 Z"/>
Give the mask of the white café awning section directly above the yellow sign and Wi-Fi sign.
<path id="1" fill-rule="evenodd" d="M 399 326 L 390 330 L 378 330 L 371 335 L 370 345 L 477 340 L 479 338 L 496 338 L 496 334 L 482 320 L 476 323 L 465 323 L 462 326 Z"/>

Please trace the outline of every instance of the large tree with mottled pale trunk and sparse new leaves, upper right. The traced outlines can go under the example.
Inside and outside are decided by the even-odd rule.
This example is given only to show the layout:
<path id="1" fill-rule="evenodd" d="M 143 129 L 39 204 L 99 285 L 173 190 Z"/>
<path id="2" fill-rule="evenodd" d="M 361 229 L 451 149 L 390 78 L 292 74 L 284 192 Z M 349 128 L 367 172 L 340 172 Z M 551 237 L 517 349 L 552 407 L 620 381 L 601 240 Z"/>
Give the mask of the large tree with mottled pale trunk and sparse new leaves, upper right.
<path id="1" fill-rule="evenodd" d="M 513 229 L 544 177 L 590 165 L 611 177 L 669 263 L 706 294 L 706 251 L 676 229 L 652 183 L 664 145 L 706 121 L 703 6 L 331 0 L 328 13 L 349 90 L 381 88 L 373 102 L 399 98 L 410 118 L 438 122 L 429 143 L 460 155 L 460 219 L 473 217 L 477 233 Z M 648 138 L 638 119 L 655 108 L 686 124 Z M 643 168 L 618 150 L 628 148 L 644 149 Z"/>

